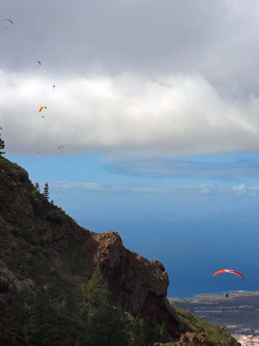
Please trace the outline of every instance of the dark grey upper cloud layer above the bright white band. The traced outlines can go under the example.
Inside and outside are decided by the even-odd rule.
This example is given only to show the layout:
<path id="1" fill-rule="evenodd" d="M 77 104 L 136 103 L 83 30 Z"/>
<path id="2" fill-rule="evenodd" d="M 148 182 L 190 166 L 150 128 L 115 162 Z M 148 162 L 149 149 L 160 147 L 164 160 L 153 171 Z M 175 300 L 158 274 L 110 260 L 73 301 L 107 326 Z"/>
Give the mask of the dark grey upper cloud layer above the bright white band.
<path id="1" fill-rule="evenodd" d="M 222 93 L 258 91 L 259 4 L 251 0 L 13 0 L 1 67 L 40 73 L 199 72 Z"/>

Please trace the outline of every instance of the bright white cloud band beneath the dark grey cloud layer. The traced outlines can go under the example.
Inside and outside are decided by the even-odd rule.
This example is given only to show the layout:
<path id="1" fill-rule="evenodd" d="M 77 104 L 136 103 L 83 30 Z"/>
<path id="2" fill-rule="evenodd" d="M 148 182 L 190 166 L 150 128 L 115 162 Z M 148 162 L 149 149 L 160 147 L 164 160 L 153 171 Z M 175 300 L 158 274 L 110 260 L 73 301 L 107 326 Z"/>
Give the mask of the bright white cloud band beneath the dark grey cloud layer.
<path id="1" fill-rule="evenodd" d="M 100 78 L 0 72 L 6 151 L 147 156 L 259 149 L 259 98 L 223 100 L 199 74 Z M 52 91 L 52 84 L 56 85 Z M 46 105 L 38 113 L 38 108 Z M 41 118 L 41 116 L 44 118 Z"/>

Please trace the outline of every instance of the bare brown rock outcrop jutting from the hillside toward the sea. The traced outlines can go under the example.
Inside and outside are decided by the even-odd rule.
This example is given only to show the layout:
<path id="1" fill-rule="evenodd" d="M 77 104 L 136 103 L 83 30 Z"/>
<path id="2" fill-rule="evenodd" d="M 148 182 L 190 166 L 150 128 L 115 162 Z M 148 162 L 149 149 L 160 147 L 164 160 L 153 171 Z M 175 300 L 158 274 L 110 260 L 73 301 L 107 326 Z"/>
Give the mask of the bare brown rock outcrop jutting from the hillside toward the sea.
<path id="1" fill-rule="evenodd" d="M 144 318 L 151 316 L 156 323 L 164 322 L 172 337 L 180 336 L 177 312 L 165 299 L 169 279 L 162 263 L 125 249 L 117 232 L 82 231 L 75 239 L 84 243 L 89 277 L 95 265 L 101 265 L 116 305 L 134 316 L 141 311 Z"/>

